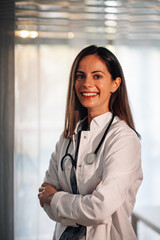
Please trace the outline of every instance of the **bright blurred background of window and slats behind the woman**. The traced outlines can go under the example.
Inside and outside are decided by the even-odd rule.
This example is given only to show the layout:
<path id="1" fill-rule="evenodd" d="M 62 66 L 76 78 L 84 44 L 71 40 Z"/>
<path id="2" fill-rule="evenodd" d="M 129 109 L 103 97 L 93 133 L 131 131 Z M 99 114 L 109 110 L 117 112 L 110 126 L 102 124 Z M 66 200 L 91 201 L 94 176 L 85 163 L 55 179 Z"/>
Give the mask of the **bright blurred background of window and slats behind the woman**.
<path id="1" fill-rule="evenodd" d="M 52 239 L 37 194 L 64 127 L 71 64 L 84 47 L 119 59 L 141 134 L 144 173 L 136 207 L 160 205 L 160 1 L 15 1 L 14 238 Z M 160 221 L 160 216 L 159 216 Z M 143 223 L 139 240 L 160 235 Z"/>

